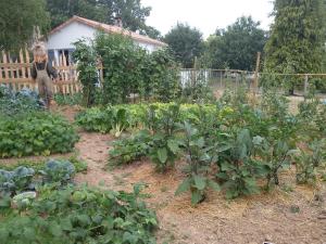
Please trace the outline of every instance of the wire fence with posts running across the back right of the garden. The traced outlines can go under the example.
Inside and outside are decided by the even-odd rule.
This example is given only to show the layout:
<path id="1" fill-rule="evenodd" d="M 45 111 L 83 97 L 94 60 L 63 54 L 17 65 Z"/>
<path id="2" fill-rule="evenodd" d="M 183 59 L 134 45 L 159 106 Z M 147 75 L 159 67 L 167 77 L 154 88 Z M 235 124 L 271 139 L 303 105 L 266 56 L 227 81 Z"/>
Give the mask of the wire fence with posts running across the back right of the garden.
<path id="1" fill-rule="evenodd" d="M 247 88 L 256 93 L 262 92 L 262 86 L 276 87 L 280 93 L 289 92 L 289 84 L 293 84 L 296 95 L 314 92 L 326 98 L 326 74 L 268 74 L 236 70 L 236 69 L 181 69 L 180 82 L 195 86 L 203 82 L 214 91 L 223 92 L 225 89 L 237 90 Z"/>

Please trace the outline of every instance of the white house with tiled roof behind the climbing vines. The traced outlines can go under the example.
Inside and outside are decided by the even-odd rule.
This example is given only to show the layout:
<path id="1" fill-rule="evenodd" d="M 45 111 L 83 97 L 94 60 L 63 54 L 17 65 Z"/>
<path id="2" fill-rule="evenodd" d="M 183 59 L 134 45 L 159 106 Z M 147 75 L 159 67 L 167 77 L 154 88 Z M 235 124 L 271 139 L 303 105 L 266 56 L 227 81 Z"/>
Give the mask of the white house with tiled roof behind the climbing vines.
<path id="1" fill-rule="evenodd" d="M 128 36 L 135 41 L 135 43 L 138 43 L 149 52 L 167 46 L 162 41 L 126 30 L 120 26 L 106 25 L 84 17 L 74 16 L 62 25 L 52 29 L 48 35 L 46 46 L 49 52 L 49 59 L 52 61 L 58 61 L 59 56 L 64 54 L 67 62 L 71 62 L 71 53 L 75 50 L 73 43 L 82 38 L 93 39 L 95 34 L 98 30 L 102 30 L 108 34 L 122 34 Z"/>

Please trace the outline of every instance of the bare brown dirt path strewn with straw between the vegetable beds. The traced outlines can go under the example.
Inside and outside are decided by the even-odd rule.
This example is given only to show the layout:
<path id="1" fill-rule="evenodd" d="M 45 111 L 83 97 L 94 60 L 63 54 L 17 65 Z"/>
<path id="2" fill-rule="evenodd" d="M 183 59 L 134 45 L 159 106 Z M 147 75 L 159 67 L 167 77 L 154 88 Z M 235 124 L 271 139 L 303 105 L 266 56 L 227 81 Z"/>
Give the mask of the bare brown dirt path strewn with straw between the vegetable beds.
<path id="1" fill-rule="evenodd" d="M 102 181 L 110 189 L 126 191 L 134 183 L 147 183 L 150 198 L 146 201 L 160 220 L 159 243 L 261 244 L 265 240 L 276 244 L 326 243 L 326 220 L 318 219 L 325 206 L 315 201 L 316 192 L 312 189 L 290 184 L 284 185 L 290 189 L 287 191 L 275 190 L 233 202 L 212 192 L 206 202 L 195 208 L 188 194 L 174 196 L 183 179 L 180 169 L 160 175 L 150 162 L 143 160 L 108 170 L 112 140 L 111 136 L 80 133 L 77 149 L 88 163 L 88 172 L 78 175 L 76 180 L 91 185 Z"/>

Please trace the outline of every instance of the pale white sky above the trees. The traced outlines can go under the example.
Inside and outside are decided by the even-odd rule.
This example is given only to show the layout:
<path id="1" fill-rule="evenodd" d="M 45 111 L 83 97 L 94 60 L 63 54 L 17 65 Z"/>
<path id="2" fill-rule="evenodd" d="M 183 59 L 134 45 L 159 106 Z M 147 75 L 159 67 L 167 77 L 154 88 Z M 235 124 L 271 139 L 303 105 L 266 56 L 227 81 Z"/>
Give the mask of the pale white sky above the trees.
<path id="1" fill-rule="evenodd" d="M 204 38 L 242 15 L 260 21 L 266 30 L 273 22 L 269 17 L 272 0 L 141 0 L 141 4 L 152 8 L 147 25 L 155 27 L 162 35 L 178 22 L 200 29 Z"/>

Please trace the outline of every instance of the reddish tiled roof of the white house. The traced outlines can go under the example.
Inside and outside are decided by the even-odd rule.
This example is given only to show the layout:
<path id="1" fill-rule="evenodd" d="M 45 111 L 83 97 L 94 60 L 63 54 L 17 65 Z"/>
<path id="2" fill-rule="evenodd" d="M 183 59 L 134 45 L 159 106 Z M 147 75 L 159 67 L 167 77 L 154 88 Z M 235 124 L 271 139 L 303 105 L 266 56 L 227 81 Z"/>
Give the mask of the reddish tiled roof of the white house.
<path id="1" fill-rule="evenodd" d="M 62 28 L 64 28 L 65 26 L 70 25 L 73 22 L 78 22 L 78 23 L 88 25 L 88 26 L 97 28 L 99 30 L 103 30 L 104 33 L 108 33 L 108 34 L 115 33 L 115 34 L 122 34 L 122 35 L 125 35 L 125 36 L 129 36 L 131 39 L 137 40 L 139 42 L 146 42 L 146 43 L 149 43 L 149 44 L 155 44 L 155 46 L 160 46 L 160 47 L 166 47 L 167 46 L 166 43 L 164 43 L 162 41 L 152 39 L 150 37 L 147 37 L 147 36 L 143 36 L 143 35 L 137 34 L 137 33 L 126 30 L 122 27 L 103 24 L 103 23 L 100 23 L 100 22 L 96 22 L 96 21 L 85 18 L 85 17 L 79 17 L 79 16 L 76 16 L 76 15 L 73 16 L 72 18 L 67 20 L 66 22 L 64 22 L 60 26 L 55 27 L 54 29 L 52 29 L 49 33 L 49 36 L 57 33 L 57 31 L 60 31 Z"/>

